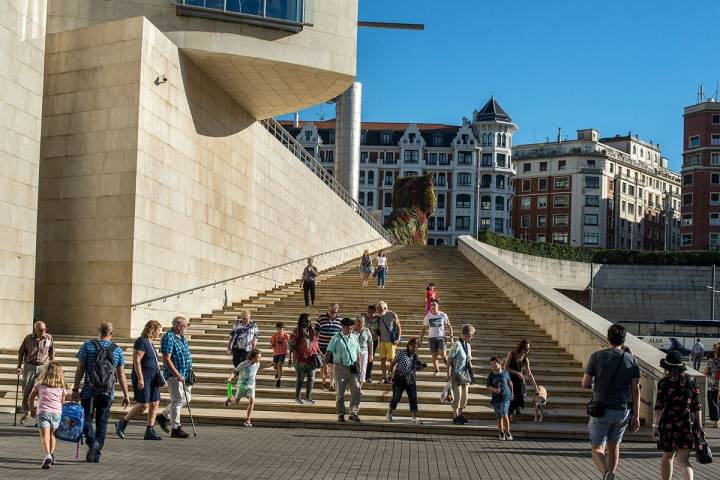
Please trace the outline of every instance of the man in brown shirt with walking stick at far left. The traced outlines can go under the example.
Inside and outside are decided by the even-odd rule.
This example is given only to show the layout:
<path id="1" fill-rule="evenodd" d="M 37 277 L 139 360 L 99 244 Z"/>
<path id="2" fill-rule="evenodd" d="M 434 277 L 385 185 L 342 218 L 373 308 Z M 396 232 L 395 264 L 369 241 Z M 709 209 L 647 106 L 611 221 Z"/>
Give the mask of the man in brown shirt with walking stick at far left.
<path id="1" fill-rule="evenodd" d="M 35 322 L 33 333 L 27 335 L 18 350 L 17 386 L 15 388 L 15 417 L 17 418 L 17 397 L 20 387 L 20 374 L 22 373 L 22 411 L 20 424 L 24 425 L 31 410 L 28 397 L 35 386 L 35 379 L 42 373 L 45 365 L 55 359 L 55 345 L 52 335 L 47 333 L 44 322 Z M 17 422 L 13 420 L 13 425 Z"/>

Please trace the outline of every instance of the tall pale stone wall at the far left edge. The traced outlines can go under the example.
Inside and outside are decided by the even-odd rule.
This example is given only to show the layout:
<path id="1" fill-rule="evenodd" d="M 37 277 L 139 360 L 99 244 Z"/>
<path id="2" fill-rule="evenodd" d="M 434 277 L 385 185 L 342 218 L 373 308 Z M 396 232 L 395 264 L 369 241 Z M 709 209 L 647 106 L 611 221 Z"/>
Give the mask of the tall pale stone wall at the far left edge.
<path id="1" fill-rule="evenodd" d="M 0 348 L 32 330 L 46 8 L 0 5 Z"/>

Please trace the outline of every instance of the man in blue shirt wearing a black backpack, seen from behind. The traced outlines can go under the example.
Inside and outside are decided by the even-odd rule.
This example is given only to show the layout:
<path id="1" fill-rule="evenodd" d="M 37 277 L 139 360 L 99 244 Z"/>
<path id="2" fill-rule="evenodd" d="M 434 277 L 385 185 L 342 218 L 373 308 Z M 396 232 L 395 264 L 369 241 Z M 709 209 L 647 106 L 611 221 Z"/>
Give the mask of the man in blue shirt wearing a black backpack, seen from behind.
<path id="1" fill-rule="evenodd" d="M 85 460 L 88 462 L 100 463 L 100 454 L 105 444 L 105 433 L 107 432 L 107 420 L 110 415 L 110 407 L 115 399 L 115 382 L 119 381 L 123 391 L 123 408 L 130 405 L 128 400 L 128 386 L 125 379 L 125 356 L 120 347 L 111 341 L 113 334 L 113 325 L 109 322 L 100 324 L 98 340 L 88 340 L 82 344 L 76 357 L 78 366 L 75 369 L 75 382 L 72 389 L 72 400 L 80 403 L 85 410 L 85 424 L 83 425 L 83 434 L 85 435 L 88 445 L 88 452 Z M 110 375 L 114 378 L 108 378 L 107 382 L 93 383 L 103 380 L 103 376 L 98 376 L 96 369 L 96 360 L 101 352 L 109 352 L 112 355 L 112 364 L 115 371 Z M 92 381 L 91 381 L 92 379 Z M 82 391 L 78 389 L 80 381 L 83 380 Z M 95 419 L 95 428 L 93 429 L 93 419 Z"/>

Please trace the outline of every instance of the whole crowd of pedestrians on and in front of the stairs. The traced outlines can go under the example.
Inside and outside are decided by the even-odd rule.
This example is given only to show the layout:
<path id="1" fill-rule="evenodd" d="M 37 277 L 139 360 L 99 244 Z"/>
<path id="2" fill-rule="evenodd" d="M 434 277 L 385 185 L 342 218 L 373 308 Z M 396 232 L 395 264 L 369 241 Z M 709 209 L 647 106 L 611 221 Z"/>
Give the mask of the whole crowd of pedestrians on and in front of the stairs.
<path id="1" fill-rule="evenodd" d="M 387 257 L 380 252 L 374 267 L 370 258 L 365 251 L 360 265 L 362 286 L 367 286 L 372 274 L 377 277 L 378 286 L 384 288 Z M 390 384 L 392 391 L 386 420 L 396 421 L 398 404 L 406 395 L 410 421 L 422 424 L 417 372 L 427 368 L 428 364 L 420 361 L 418 349 L 423 347 L 427 336 L 433 373 L 441 375 L 442 372 L 446 380 L 441 400 L 450 405 L 453 424 L 468 423 L 465 410 L 469 403 L 470 386 L 475 384 L 471 346 L 475 327 L 464 324 L 459 337 L 455 337 L 449 316 L 440 310 L 440 299 L 434 284 L 430 283 L 426 289 L 425 315 L 419 338 L 403 340 L 401 321 L 385 301 L 371 304 L 365 312 L 353 317 L 341 316 L 339 305 L 333 303 L 327 313 L 320 315 L 313 324 L 307 309 L 314 305 L 318 276 L 312 259 L 308 259 L 302 274 L 306 311 L 300 313 L 297 325 L 288 332 L 283 322 L 277 322 L 270 337 L 276 387 L 282 386 L 287 360 L 296 374 L 295 402 L 313 405 L 316 403 L 312 397 L 315 375 L 319 371 L 323 389 L 335 392 L 337 420 L 361 422 L 363 384 L 372 383 L 374 358 L 377 356 L 381 370 L 379 381 Z M 162 334 L 161 324 L 151 320 L 135 340 L 130 375 L 135 405 L 115 423 L 118 437 L 125 438 L 130 421 L 143 413 L 147 415 L 144 439 L 162 440 L 155 430 L 156 422 L 171 438 L 189 436 L 181 423 L 181 410 L 184 406 L 189 409 L 192 385 L 195 383 L 192 354 L 185 336 L 188 324 L 186 318 L 175 317 L 171 328 Z M 247 399 L 244 421 L 247 427 L 252 427 L 257 375 L 263 358 L 258 349 L 260 337 L 260 328 L 252 320 L 251 312 L 240 312 L 227 343 L 233 369 L 227 378 L 225 406 L 230 407 Z M 626 430 L 637 431 L 640 426 L 640 369 L 635 357 L 624 346 L 625 337 L 626 332 L 621 325 L 609 328 L 609 347 L 590 356 L 581 382 L 584 388 L 592 390 L 587 428 L 591 458 L 603 480 L 615 478 L 620 462 L 620 445 Z M 122 391 L 122 407 L 126 408 L 130 403 L 124 373 L 125 353 L 112 338 L 113 325 L 102 323 L 98 337 L 84 342 L 76 354 L 78 364 L 71 398 L 73 402 L 79 402 L 84 410 L 83 435 L 88 447 L 85 456 L 88 462 L 100 462 L 116 385 L 119 384 Z M 159 353 L 153 345 L 158 338 Z M 698 344 L 700 347 L 697 347 Z M 702 358 L 698 353 L 704 352 L 699 339 L 695 347 L 691 359 L 693 366 L 699 369 Z M 532 385 L 536 398 L 547 396 L 547 391 L 537 384 L 532 373 L 530 351 L 529 341 L 523 339 L 504 359 L 492 356 L 489 360 L 485 387 L 490 395 L 489 405 L 495 412 L 498 438 L 503 441 L 513 440 L 511 422 L 526 407 L 527 384 Z M 159 355 L 162 355 L 162 364 Z M 18 350 L 17 374 L 18 379 L 22 374 L 23 416 L 20 422 L 26 423 L 29 415 L 36 418 L 44 469 L 55 463 L 53 434 L 58 429 L 65 401 L 63 370 L 54 356 L 52 336 L 47 333 L 43 322 L 36 322 L 33 333 L 23 339 Z M 677 462 L 682 477 L 692 479 L 690 451 L 696 441 L 693 432 L 702 428 L 702 396 L 693 377 L 686 373 L 680 353 L 669 353 L 660 366 L 666 376 L 658 383 L 653 433 L 658 449 L 663 452 L 661 478 L 670 479 L 673 462 Z M 711 358 L 703 373 L 707 376 L 710 420 L 720 428 L 720 343 L 713 345 Z M 165 387 L 170 402 L 159 413 L 160 390 Z M 349 394 L 349 399 L 346 394 Z"/>

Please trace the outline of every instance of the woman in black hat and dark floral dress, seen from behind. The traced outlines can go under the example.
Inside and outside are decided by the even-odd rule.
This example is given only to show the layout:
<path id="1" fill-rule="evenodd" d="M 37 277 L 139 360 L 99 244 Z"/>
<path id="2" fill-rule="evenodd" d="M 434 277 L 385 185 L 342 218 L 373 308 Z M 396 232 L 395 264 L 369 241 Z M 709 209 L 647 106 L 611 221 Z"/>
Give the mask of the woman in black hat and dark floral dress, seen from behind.
<path id="1" fill-rule="evenodd" d="M 673 473 L 673 459 L 677 456 L 682 478 L 692 480 L 690 449 L 693 447 L 692 420 L 697 418 L 702 426 L 700 411 L 700 389 L 695 380 L 685 373 L 682 354 L 673 351 L 660 361 L 665 369 L 665 378 L 658 382 L 655 403 L 655 428 L 658 450 L 663 452 L 660 464 L 660 478 L 670 480 Z M 691 415 L 692 414 L 692 415 Z"/>

